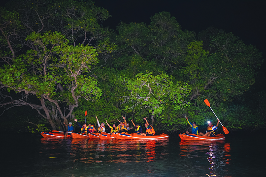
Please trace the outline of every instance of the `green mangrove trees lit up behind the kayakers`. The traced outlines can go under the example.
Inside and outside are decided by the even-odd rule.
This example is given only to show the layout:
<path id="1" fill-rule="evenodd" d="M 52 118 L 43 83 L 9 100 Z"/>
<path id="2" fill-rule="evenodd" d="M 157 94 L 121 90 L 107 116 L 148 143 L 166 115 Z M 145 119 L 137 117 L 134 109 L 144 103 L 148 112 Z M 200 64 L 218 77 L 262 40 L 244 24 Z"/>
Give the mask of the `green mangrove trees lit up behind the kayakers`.
<path id="1" fill-rule="evenodd" d="M 156 132 L 217 122 L 230 132 L 265 123 L 266 92 L 254 91 L 262 53 L 231 32 L 183 30 L 168 12 L 150 23 L 104 27 L 93 1 L 11 0 L 0 7 L 0 119 L 4 131 L 65 131 L 64 122 L 116 123 Z M 10 127 L 11 126 L 11 127 Z M 219 125 L 222 130 L 222 126 Z M 204 130 L 201 130 L 204 131 Z"/>

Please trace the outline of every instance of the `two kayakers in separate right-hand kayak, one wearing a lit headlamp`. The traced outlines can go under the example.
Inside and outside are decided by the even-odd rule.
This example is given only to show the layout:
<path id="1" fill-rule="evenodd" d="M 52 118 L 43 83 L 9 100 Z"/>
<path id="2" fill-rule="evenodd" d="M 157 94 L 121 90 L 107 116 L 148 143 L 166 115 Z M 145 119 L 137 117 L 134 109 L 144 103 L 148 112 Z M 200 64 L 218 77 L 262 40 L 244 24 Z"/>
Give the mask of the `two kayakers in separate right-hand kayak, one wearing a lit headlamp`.
<path id="1" fill-rule="evenodd" d="M 191 126 L 191 134 L 196 134 L 196 135 L 200 135 L 200 136 L 211 136 L 211 137 L 214 137 L 215 136 L 215 131 L 217 130 L 217 127 L 219 125 L 219 119 L 218 119 L 218 122 L 217 122 L 217 125 L 216 126 L 213 126 L 212 122 L 211 121 L 208 121 L 208 127 L 207 127 L 207 131 L 206 133 L 201 133 L 199 132 L 199 127 L 196 125 L 196 122 L 190 122 L 189 119 L 187 117 L 185 117 L 189 123 L 189 125 Z M 189 132 L 187 131 L 186 132 L 187 134 L 189 134 Z"/>

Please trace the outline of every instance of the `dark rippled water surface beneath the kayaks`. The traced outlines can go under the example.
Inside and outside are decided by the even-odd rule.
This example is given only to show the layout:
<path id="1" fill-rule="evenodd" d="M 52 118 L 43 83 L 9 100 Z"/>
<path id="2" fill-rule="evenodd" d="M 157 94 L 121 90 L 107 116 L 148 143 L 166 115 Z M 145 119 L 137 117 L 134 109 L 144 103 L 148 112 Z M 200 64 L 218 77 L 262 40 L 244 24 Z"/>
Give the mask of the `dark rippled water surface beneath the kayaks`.
<path id="1" fill-rule="evenodd" d="M 265 177 L 263 136 L 225 141 L 77 140 L 6 135 L 1 177 Z"/>

